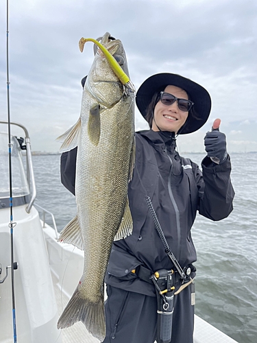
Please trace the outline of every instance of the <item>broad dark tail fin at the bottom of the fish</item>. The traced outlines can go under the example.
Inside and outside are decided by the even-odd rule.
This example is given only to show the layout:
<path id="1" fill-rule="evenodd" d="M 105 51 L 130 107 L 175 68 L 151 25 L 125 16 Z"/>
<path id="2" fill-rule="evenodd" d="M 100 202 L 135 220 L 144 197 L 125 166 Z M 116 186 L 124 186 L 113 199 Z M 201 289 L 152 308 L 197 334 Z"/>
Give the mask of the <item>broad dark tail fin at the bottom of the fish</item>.
<path id="1" fill-rule="evenodd" d="M 57 327 L 58 329 L 65 329 L 79 321 L 83 322 L 89 333 L 103 342 L 106 336 L 103 293 L 98 302 L 93 303 L 82 296 L 81 292 L 79 292 L 79 286 L 77 286 L 71 300 L 69 300 L 58 320 Z"/>

